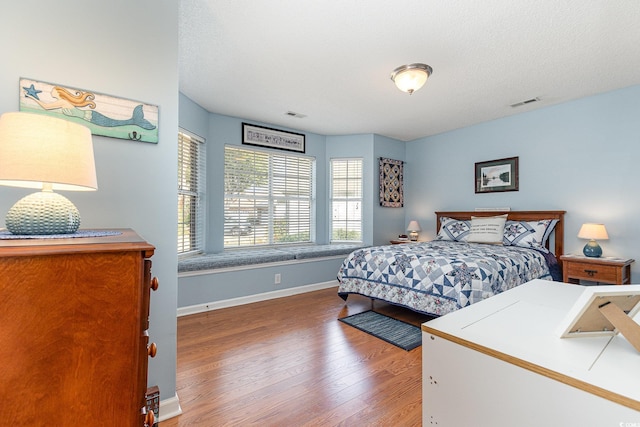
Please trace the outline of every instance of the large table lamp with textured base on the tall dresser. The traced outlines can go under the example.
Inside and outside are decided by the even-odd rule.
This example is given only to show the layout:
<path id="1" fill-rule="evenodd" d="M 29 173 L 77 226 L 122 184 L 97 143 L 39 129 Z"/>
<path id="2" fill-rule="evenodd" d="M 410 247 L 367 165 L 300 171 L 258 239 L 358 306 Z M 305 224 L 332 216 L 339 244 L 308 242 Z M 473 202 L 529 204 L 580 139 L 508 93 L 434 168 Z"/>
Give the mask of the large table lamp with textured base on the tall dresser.
<path id="1" fill-rule="evenodd" d="M 67 120 L 24 112 L 0 116 L 0 185 L 41 188 L 9 210 L 12 234 L 75 233 L 80 213 L 53 190 L 98 188 L 91 131 Z"/>

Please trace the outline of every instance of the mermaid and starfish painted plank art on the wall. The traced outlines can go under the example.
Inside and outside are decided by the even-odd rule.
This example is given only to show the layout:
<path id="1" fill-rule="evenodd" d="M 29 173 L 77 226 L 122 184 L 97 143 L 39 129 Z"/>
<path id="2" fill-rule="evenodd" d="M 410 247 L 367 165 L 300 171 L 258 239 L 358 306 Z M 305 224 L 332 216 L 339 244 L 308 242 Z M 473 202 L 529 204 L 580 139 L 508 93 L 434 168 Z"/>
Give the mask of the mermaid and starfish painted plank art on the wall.
<path id="1" fill-rule="evenodd" d="M 94 135 L 158 142 L 158 107 L 130 99 L 22 78 L 20 111 L 74 121 Z"/>

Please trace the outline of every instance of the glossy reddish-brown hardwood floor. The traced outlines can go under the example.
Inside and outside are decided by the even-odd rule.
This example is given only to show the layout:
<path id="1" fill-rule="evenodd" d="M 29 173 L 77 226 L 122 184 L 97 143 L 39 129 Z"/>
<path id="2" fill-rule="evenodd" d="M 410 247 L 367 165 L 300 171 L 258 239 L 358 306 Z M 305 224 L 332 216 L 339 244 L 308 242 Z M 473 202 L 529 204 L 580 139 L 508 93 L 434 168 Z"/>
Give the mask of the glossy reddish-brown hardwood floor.
<path id="1" fill-rule="evenodd" d="M 183 414 L 160 427 L 419 426 L 422 347 L 339 322 L 371 308 L 336 288 L 178 319 Z M 415 325 L 429 317 L 376 301 Z"/>

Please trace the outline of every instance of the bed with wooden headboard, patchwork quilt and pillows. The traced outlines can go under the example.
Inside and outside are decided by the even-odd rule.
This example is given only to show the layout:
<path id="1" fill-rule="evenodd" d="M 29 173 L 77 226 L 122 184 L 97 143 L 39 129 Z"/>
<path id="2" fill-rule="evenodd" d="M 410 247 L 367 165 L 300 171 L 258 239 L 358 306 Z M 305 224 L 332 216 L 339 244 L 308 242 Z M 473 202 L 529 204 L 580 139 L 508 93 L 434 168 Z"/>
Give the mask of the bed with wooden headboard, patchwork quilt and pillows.
<path id="1" fill-rule="evenodd" d="M 562 281 L 564 214 L 436 212 L 431 242 L 351 252 L 338 271 L 338 295 L 442 316 L 536 278 Z"/>

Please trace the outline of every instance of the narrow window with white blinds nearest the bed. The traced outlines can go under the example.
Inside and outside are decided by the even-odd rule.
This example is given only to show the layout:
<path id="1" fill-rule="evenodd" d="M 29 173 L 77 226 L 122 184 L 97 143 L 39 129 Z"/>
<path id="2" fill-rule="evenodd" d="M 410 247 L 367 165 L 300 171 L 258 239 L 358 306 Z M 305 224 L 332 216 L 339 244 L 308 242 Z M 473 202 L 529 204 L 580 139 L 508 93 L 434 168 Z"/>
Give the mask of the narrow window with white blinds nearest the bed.
<path id="1" fill-rule="evenodd" d="M 362 159 L 331 159 L 331 242 L 362 241 Z"/>

